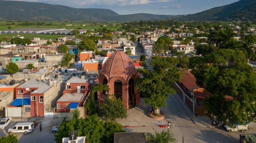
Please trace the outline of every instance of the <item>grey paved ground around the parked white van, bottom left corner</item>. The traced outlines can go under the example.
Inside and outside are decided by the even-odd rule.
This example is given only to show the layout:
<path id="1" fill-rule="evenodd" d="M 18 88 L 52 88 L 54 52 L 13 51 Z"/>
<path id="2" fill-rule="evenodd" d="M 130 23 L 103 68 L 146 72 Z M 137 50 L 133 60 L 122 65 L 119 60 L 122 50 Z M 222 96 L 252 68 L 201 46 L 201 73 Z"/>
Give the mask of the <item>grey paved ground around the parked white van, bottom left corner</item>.
<path id="1" fill-rule="evenodd" d="M 0 118 L 3 119 L 3 118 Z M 25 135 L 24 133 L 13 133 L 13 135 L 17 135 L 17 139 L 19 143 L 52 143 L 54 141 L 54 133 L 52 133 L 51 129 L 53 126 L 61 123 L 63 118 L 29 118 L 29 119 L 20 119 L 13 118 L 12 122 L 3 130 L 0 131 L 0 136 L 6 137 L 8 135 L 8 129 L 14 126 L 16 123 L 20 122 L 37 122 L 38 125 L 35 129 Z M 40 132 L 39 125 L 42 124 L 42 131 Z"/>

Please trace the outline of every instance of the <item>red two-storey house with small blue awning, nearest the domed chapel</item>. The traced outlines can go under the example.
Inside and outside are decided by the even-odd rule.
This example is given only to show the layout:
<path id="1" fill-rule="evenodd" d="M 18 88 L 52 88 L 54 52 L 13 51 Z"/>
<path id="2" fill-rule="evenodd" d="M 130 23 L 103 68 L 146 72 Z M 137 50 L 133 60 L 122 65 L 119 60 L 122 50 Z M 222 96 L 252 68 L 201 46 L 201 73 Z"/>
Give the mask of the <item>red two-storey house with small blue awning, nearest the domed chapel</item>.
<path id="1" fill-rule="evenodd" d="M 90 91 L 90 78 L 72 77 L 66 82 L 63 95 L 57 100 L 57 112 L 69 112 L 70 108 L 83 107 Z"/>

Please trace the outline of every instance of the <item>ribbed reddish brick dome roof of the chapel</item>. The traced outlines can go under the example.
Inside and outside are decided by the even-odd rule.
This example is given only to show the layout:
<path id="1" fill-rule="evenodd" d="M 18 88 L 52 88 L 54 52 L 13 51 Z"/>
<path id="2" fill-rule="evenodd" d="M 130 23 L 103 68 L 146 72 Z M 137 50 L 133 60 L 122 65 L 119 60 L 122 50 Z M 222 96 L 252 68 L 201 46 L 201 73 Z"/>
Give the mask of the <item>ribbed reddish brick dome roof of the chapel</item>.
<path id="1" fill-rule="evenodd" d="M 137 74 L 137 71 L 128 55 L 122 51 L 116 51 L 105 61 L 100 74 L 104 74 L 109 79 L 113 76 L 127 79 L 130 75 Z"/>

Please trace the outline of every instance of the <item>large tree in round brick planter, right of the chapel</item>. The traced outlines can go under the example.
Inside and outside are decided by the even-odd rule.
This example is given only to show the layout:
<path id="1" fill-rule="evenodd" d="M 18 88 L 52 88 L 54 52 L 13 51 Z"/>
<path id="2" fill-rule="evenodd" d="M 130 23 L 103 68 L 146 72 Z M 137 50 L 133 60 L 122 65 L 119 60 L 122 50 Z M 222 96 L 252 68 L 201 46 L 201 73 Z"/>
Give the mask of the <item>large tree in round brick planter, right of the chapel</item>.
<path id="1" fill-rule="evenodd" d="M 146 97 L 145 103 L 152 105 L 154 114 L 159 114 L 159 107 L 166 106 L 168 95 L 174 94 L 173 82 L 180 81 L 181 73 L 177 64 L 179 60 L 173 57 L 152 57 L 148 68 L 138 69 L 143 78 L 136 79 L 136 89 Z"/>

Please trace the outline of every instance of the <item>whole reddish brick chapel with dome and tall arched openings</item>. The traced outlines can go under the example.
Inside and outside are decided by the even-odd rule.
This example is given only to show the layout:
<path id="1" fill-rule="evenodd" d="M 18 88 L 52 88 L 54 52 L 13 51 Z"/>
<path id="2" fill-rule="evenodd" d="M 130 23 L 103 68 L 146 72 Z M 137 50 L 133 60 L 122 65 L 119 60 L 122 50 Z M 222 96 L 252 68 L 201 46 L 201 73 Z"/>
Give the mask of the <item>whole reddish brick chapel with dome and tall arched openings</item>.
<path id="1" fill-rule="evenodd" d="M 140 104 L 140 91 L 135 90 L 136 76 L 138 73 L 130 57 L 122 51 L 116 51 L 104 63 L 99 72 L 98 83 L 108 85 L 110 88 L 108 94 L 120 98 L 125 109 L 129 109 L 129 105 Z M 104 102 L 105 92 L 100 94 L 100 100 Z"/>

